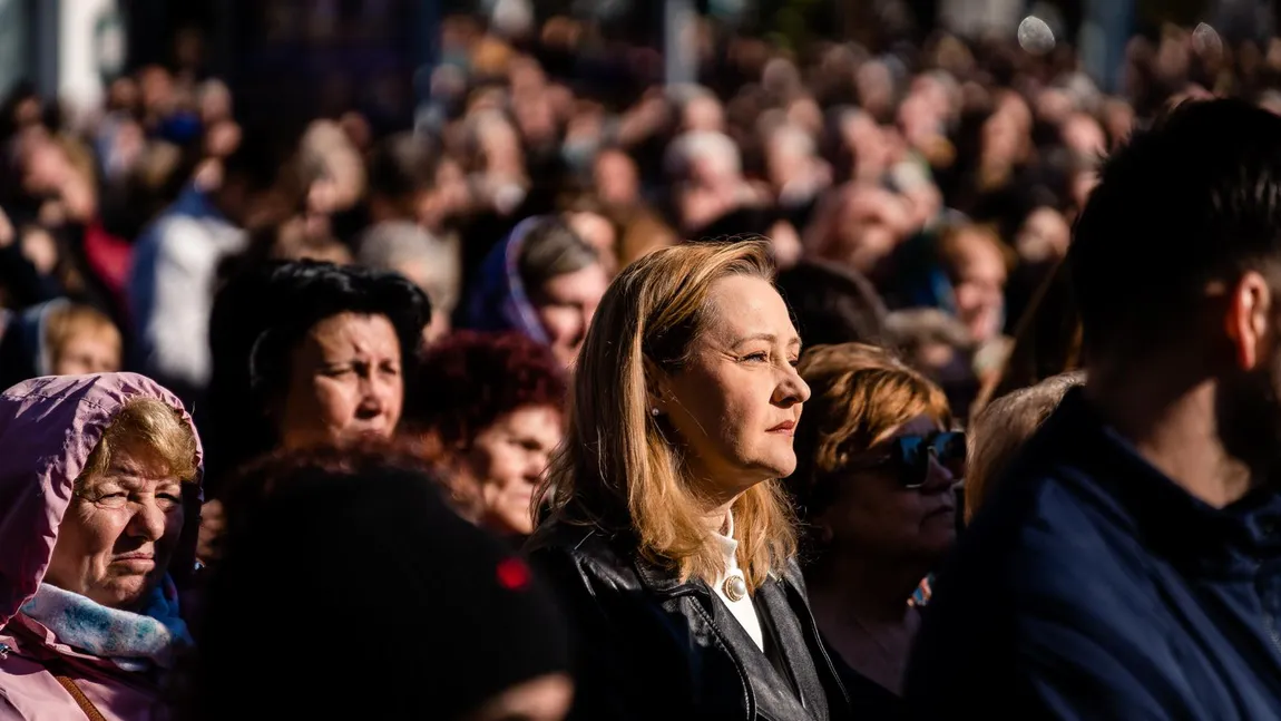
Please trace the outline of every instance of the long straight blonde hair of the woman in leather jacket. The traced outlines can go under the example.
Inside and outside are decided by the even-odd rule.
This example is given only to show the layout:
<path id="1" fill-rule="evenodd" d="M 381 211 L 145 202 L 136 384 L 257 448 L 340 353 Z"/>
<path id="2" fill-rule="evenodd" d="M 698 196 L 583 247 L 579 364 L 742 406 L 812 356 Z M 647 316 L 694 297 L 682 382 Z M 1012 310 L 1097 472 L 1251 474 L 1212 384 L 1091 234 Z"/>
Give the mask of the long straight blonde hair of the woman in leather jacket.
<path id="1" fill-rule="evenodd" d="M 610 284 L 575 371 L 565 443 L 535 507 L 582 525 L 630 526 L 648 562 L 681 580 L 715 580 L 725 566 L 710 543 L 705 503 L 678 447 L 649 415 L 653 373 L 679 370 L 708 321 L 712 287 L 748 275 L 772 282 L 760 241 L 685 243 L 629 265 Z M 733 506 L 738 562 L 760 588 L 796 553 L 796 526 L 779 480 L 760 483 Z"/>

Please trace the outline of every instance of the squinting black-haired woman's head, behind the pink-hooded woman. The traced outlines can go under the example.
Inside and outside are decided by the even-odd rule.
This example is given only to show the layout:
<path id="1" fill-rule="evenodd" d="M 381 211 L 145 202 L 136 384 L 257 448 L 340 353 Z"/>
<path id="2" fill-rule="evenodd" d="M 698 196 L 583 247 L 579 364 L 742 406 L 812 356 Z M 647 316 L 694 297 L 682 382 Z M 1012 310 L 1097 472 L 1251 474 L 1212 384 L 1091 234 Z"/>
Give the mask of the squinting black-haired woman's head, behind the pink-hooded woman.
<path id="1" fill-rule="evenodd" d="M 429 316 L 395 273 L 304 260 L 234 277 L 210 323 L 211 475 L 279 447 L 389 437 Z"/>

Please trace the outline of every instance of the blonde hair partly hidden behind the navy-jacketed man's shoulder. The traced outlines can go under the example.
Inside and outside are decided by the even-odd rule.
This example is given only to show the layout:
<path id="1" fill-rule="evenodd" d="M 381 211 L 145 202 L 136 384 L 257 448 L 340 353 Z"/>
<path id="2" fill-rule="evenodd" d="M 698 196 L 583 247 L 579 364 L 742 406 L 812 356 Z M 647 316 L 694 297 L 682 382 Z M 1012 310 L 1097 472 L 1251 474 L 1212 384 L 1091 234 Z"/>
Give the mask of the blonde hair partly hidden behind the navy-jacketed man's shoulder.
<path id="1" fill-rule="evenodd" d="M 1085 383 L 1081 371 L 1052 375 L 988 403 L 970 430 L 965 479 L 965 517 L 974 517 L 991 484 L 1004 475 L 1024 443 L 1045 423 L 1063 396 Z"/>

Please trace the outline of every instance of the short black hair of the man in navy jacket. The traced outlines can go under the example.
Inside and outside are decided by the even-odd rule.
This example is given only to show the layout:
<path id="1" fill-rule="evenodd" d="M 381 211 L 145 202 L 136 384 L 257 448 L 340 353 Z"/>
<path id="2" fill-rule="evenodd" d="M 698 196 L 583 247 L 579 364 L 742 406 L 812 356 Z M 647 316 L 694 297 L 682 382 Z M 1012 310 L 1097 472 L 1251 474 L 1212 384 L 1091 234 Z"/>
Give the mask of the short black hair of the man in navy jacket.
<path id="1" fill-rule="evenodd" d="M 1184 102 L 1109 158 L 1068 251 L 1088 355 L 1136 357 L 1186 337 L 1204 284 L 1281 252 L 1281 118 Z"/>

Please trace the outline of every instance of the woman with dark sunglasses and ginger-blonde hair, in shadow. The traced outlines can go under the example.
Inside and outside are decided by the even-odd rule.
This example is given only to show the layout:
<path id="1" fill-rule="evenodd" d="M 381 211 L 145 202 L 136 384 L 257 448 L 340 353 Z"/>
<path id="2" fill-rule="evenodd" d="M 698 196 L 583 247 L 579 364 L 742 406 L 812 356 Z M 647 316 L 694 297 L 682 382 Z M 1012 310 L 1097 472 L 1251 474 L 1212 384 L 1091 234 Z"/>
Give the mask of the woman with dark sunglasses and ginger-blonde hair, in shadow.
<path id="1" fill-rule="evenodd" d="M 789 479 L 808 528 L 806 584 L 856 718 L 899 718 L 920 626 L 913 594 L 956 539 L 965 435 L 943 391 L 886 351 L 821 346 Z"/>

